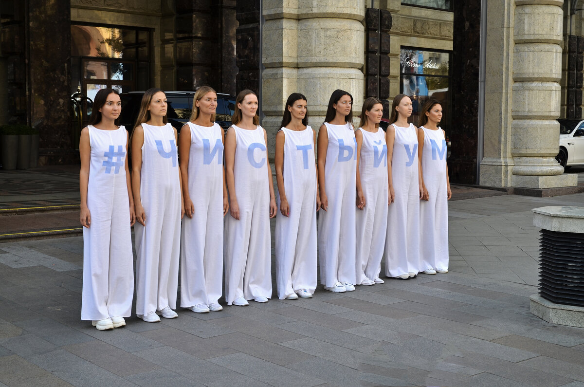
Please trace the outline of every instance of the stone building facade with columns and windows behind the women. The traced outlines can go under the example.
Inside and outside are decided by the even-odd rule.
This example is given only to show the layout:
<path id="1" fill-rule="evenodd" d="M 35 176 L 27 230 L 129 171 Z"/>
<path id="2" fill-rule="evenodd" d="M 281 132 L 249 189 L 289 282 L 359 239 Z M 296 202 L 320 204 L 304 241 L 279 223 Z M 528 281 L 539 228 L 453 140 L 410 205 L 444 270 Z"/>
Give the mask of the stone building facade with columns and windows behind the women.
<path id="1" fill-rule="evenodd" d="M 315 129 L 334 89 L 351 92 L 355 112 L 367 96 L 389 110 L 404 92 L 414 120 L 425 99 L 443 102 L 451 181 L 575 185 L 554 157 L 556 119 L 582 116 L 581 3 L 4 0 L 0 123 L 36 125 L 43 161 L 72 162 L 78 89 L 251 88 L 273 150 L 291 92 L 308 97 Z"/>

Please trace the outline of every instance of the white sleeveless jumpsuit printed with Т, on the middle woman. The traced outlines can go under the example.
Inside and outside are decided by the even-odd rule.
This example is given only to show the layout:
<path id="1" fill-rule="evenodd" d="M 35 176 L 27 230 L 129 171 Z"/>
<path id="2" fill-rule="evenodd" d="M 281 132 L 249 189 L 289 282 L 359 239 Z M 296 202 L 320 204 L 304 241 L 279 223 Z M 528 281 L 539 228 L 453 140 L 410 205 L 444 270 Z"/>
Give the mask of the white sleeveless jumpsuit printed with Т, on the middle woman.
<path id="1" fill-rule="evenodd" d="M 301 289 L 317 287 L 317 172 L 314 132 L 310 126 L 284 133 L 284 190 L 290 216 L 276 216 L 276 284 L 285 299 Z M 280 208 L 280 193 L 277 192 Z"/>

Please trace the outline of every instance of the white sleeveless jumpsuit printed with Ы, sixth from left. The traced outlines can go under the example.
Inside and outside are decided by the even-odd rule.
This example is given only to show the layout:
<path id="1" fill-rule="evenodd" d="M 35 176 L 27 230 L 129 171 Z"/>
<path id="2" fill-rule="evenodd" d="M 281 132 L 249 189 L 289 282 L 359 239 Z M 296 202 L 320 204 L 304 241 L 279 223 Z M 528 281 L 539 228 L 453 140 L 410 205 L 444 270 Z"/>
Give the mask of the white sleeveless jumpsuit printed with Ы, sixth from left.
<path id="1" fill-rule="evenodd" d="M 355 184 L 357 141 L 353 125 L 325 122 L 328 147 L 325 161 L 325 189 L 328 210 L 318 216 L 318 253 L 321 284 L 355 284 Z"/>

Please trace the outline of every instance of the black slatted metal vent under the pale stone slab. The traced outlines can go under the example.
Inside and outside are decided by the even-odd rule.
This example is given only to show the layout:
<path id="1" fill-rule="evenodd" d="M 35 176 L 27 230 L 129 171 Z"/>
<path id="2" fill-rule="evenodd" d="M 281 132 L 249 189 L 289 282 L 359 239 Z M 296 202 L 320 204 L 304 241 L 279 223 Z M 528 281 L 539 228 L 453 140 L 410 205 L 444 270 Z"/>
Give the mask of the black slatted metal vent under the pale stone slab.
<path id="1" fill-rule="evenodd" d="M 541 230 L 540 295 L 584 306 L 584 234 Z"/>

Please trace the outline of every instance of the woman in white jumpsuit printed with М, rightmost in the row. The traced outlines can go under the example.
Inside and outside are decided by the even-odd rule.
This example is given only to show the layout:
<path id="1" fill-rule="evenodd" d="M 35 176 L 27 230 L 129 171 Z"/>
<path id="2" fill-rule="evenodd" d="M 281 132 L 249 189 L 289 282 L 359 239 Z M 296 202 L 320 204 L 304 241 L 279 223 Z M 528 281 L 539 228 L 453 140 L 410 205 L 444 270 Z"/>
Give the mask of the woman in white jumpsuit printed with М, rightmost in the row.
<path id="1" fill-rule="evenodd" d="M 423 201 L 420 202 L 420 271 L 447 273 L 448 199 L 452 196 L 446 165 L 446 134 L 438 123 L 442 105 L 436 99 L 425 103 L 418 129 L 419 158 L 422 163 Z"/>

